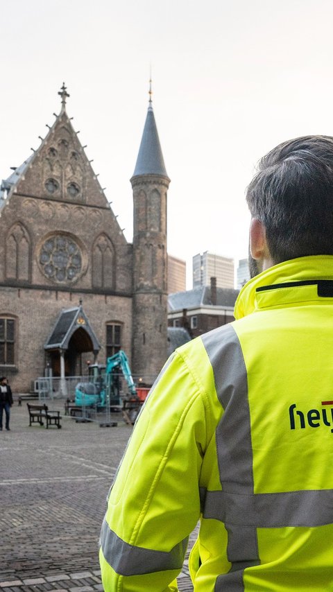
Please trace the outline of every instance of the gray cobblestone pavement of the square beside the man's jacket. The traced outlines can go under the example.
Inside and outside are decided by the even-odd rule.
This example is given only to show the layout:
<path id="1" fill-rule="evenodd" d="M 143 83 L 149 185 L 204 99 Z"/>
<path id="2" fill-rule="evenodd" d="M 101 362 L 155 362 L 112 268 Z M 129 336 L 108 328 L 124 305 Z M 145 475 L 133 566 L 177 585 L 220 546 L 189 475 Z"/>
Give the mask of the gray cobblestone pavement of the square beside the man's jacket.
<path id="1" fill-rule="evenodd" d="M 26 403 L 15 402 L 0 433 L 0 592 L 103 590 L 99 530 L 132 428 L 120 414 L 101 428 L 65 416 L 60 401 L 49 408 L 61 410 L 62 429 L 29 427 Z M 187 559 L 182 592 L 193 590 Z"/>

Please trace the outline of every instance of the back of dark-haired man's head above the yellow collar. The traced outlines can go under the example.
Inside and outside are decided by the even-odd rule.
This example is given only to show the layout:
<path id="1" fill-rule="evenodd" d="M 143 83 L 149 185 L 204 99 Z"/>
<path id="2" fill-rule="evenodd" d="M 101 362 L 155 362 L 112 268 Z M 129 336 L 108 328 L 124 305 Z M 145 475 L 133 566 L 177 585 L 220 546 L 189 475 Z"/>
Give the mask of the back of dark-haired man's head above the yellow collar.
<path id="1" fill-rule="evenodd" d="M 333 137 L 305 136 L 271 150 L 246 200 L 266 228 L 274 263 L 333 254 Z"/>

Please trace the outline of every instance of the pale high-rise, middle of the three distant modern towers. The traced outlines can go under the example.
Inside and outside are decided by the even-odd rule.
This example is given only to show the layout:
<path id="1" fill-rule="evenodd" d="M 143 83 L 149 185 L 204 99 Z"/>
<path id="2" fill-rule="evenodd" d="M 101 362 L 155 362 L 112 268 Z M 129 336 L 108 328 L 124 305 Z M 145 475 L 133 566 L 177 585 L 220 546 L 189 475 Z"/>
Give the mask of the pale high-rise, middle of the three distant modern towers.
<path id="1" fill-rule="evenodd" d="M 210 278 L 216 277 L 218 288 L 234 287 L 234 260 L 205 251 L 193 257 L 193 287 L 210 286 Z"/>

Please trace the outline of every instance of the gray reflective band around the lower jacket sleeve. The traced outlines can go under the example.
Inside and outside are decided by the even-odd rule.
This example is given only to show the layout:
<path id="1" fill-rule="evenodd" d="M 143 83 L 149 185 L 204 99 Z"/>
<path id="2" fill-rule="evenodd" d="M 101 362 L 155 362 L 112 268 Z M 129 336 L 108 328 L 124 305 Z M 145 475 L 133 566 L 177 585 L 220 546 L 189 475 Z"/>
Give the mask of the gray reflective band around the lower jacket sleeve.
<path id="1" fill-rule="evenodd" d="M 170 552 L 129 545 L 120 539 L 104 519 L 101 548 L 108 564 L 121 575 L 142 575 L 169 569 L 180 570 L 187 549 L 188 537 Z"/>

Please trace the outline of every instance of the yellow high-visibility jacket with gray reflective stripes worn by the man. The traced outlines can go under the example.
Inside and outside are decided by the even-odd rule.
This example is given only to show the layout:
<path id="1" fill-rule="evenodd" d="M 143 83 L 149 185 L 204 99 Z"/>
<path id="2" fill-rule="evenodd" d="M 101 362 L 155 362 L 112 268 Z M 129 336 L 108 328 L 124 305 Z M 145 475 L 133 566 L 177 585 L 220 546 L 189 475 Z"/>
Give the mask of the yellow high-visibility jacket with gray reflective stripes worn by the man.
<path id="1" fill-rule="evenodd" d="M 333 591 L 333 256 L 244 286 L 142 408 L 101 530 L 105 591 Z"/>

